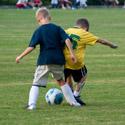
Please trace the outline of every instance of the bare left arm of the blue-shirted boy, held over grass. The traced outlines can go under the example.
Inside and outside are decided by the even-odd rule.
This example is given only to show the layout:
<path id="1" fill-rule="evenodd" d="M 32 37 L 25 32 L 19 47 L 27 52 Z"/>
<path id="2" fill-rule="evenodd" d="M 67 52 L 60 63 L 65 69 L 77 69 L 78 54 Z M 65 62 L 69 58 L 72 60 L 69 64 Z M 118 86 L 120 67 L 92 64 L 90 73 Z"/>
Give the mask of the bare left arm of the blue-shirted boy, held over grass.
<path id="1" fill-rule="evenodd" d="M 19 63 L 20 59 L 22 59 L 24 56 L 29 54 L 33 49 L 34 49 L 34 47 L 26 48 L 19 56 L 16 57 L 16 63 Z"/>

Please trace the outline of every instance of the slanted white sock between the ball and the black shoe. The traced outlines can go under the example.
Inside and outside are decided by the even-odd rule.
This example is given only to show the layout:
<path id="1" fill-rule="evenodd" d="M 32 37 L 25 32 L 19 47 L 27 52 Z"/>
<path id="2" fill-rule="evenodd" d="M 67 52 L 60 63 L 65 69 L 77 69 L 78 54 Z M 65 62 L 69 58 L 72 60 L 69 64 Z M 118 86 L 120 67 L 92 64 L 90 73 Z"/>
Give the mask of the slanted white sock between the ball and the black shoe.
<path id="1" fill-rule="evenodd" d="M 61 86 L 61 89 L 62 89 L 62 92 L 63 92 L 63 95 L 66 99 L 66 101 L 72 105 L 72 104 L 75 104 L 76 103 L 76 100 L 73 96 L 73 93 L 72 93 L 72 90 L 71 88 L 69 87 L 68 84 L 65 84 L 63 86 Z"/>

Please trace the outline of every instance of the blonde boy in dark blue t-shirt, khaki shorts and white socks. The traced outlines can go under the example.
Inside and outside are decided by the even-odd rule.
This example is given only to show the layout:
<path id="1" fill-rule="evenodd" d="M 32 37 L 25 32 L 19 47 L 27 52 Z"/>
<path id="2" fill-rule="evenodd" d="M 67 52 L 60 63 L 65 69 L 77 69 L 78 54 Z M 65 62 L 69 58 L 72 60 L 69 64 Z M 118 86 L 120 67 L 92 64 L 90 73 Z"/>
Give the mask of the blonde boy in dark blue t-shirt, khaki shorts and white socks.
<path id="1" fill-rule="evenodd" d="M 61 27 L 50 23 L 50 19 L 50 14 L 45 7 L 37 10 L 36 20 L 38 21 L 40 27 L 34 32 L 29 47 L 16 58 L 16 62 L 19 63 L 20 59 L 34 50 L 36 45 L 40 45 L 37 68 L 34 74 L 33 85 L 29 92 L 29 102 L 27 108 L 29 110 L 36 108 L 39 87 L 46 86 L 49 72 L 53 74 L 54 79 L 56 79 L 57 83 L 60 85 L 67 102 L 73 106 L 81 106 L 75 100 L 69 85 L 63 80 L 63 66 L 65 64 L 65 58 L 62 46 L 64 44 L 67 45 L 70 51 L 71 59 L 73 63 L 75 63 L 77 60 L 72 50 L 72 44 L 64 30 Z"/>

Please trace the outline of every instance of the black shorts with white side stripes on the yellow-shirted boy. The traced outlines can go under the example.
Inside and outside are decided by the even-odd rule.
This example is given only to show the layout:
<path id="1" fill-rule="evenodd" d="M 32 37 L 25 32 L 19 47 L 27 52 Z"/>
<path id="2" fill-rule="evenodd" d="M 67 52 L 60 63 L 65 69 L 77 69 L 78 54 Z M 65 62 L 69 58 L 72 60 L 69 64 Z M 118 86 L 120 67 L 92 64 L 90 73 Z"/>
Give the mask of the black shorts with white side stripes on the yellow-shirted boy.
<path id="1" fill-rule="evenodd" d="M 65 75 L 65 80 L 67 79 L 67 77 L 72 76 L 75 82 L 79 82 L 81 78 L 87 75 L 87 68 L 86 66 L 78 70 L 72 70 L 72 69 L 66 68 L 64 69 L 64 75 Z"/>

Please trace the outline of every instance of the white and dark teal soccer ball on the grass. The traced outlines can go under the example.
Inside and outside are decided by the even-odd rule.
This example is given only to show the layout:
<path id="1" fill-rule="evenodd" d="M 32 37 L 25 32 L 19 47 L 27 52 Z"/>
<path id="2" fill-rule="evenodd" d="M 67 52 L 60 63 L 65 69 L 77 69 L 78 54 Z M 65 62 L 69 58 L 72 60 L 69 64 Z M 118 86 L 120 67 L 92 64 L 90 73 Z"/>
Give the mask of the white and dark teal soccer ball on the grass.
<path id="1" fill-rule="evenodd" d="M 63 101 L 63 93 L 57 88 L 51 88 L 45 95 L 46 102 L 50 105 L 59 105 Z"/>

